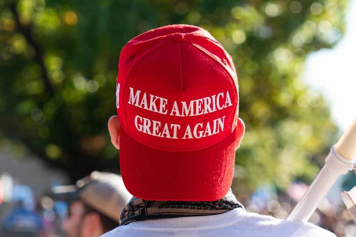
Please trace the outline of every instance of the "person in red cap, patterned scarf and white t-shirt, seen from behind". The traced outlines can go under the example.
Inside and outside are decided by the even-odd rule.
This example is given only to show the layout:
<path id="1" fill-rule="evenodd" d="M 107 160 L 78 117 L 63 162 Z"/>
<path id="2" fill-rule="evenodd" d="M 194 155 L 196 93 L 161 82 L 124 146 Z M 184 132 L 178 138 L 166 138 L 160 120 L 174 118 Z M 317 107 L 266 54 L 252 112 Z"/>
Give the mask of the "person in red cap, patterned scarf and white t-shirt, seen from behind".
<path id="1" fill-rule="evenodd" d="M 247 212 L 231 192 L 244 134 L 231 56 L 189 25 L 150 30 L 121 51 L 108 129 L 134 196 L 118 236 L 335 236 Z"/>

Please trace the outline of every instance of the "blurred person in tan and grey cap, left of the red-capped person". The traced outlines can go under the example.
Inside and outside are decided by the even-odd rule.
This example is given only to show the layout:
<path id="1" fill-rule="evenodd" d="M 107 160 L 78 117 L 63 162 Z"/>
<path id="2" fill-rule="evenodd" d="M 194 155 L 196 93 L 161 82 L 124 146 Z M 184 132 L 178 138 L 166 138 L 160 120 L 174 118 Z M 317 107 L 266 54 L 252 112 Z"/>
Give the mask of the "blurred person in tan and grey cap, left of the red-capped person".
<path id="1" fill-rule="evenodd" d="M 119 225 L 123 206 L 131 198 L 122 178 L 93 172 L 76 185 L 53 188 L 57 200 L 69 202 L 68 217 L 62 229 L 68 237 L 98 237 Z"/>

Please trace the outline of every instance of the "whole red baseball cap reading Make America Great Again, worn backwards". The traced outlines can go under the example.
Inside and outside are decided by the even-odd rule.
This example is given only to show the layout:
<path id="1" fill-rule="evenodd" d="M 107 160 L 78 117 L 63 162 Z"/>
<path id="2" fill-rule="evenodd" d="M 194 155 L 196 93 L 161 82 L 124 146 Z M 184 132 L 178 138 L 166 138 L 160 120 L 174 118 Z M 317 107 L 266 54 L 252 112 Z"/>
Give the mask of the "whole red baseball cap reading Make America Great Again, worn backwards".
<path id="1" fill-rule="evenodd" d="M 171 25 L 131 39 L 120 54 L 116 96 L 121 175 L 133 196 L 227 194 L 244 125 L 231 56 L 209 32 Z"/>

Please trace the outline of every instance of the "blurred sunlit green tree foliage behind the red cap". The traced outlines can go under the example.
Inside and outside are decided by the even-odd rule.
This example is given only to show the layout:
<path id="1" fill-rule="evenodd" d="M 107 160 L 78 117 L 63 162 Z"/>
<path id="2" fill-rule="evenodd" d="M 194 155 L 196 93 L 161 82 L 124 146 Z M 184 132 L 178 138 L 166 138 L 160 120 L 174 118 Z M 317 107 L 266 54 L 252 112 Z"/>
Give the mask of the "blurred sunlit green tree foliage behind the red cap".
<path id="1" fill-rule="evenodd" d="M 305 56 L 344 31 L 346 0 L 0 3 L 0 129 L 73 179 L 118 171 L 106 123 L 117 63 L 133 36 L 201 26 L 232 55 L 246 135 L 235 188 L 310 180 L 335 141 L 327 104 L 300 78 Z"/>

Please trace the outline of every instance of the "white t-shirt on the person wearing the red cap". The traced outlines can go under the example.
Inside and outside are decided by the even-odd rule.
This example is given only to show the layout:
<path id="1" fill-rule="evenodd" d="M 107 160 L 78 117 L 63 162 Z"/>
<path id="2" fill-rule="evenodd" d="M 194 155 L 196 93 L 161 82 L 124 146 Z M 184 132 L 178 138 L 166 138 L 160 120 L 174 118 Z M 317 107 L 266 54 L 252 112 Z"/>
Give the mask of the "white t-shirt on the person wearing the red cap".
<path id="1" fill-rule="evenodd" d="M 236 208 L 224 214 L 132 222 L 101 237 L 335 237 L 310 223 L 290 222 Z"/>

